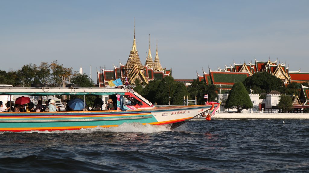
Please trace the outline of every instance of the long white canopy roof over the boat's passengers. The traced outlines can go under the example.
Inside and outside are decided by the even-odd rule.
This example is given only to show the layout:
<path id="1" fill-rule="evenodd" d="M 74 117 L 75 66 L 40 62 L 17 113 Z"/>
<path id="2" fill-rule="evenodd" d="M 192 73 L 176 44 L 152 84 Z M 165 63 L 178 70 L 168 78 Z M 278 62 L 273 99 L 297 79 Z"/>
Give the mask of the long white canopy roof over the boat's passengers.
<path id="1" fill-rule="evenodd" d="M 125 95 L 125 92 L 131 91 L 121 88 L 0 88 L 0 95 Z"/>

